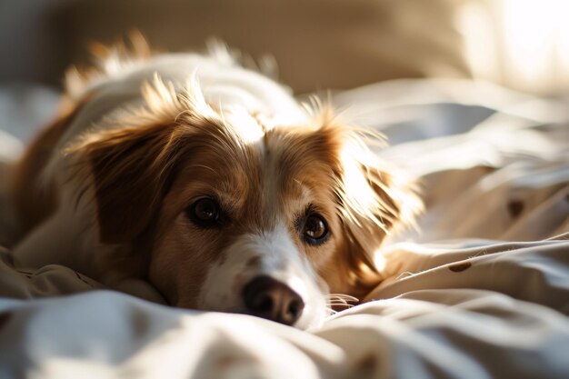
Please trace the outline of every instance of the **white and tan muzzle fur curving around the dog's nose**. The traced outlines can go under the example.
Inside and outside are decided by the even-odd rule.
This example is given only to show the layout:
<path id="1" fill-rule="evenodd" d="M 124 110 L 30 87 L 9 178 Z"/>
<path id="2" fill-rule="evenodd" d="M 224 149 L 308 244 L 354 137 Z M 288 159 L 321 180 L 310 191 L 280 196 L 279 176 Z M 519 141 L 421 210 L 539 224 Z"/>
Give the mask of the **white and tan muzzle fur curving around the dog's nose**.
<path id="1" fill-rule="evenodd" d="M 304 301 L 304 312 L 297 326 L 310 327 L 325 316 L 324 295 L 318 288 L 317 275 L 298 251 L 283 224 L 270 232 L 243 234 L 224 252 L 225 259 L 209 269 L 199 307 L 216 311 L 245 311 L 242 292 L 257 275 L 269 275 L 287 284 Z M 250 264 L 252 260 L 256 264 Z"/>

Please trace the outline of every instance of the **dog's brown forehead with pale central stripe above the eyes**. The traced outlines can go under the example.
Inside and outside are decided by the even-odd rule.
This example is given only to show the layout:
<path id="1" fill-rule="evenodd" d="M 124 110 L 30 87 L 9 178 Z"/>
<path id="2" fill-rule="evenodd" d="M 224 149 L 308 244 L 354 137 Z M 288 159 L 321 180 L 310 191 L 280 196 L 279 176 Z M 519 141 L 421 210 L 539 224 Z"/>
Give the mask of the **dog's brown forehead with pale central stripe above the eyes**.
<path id="1" fill-rule="evenodd" d="M 321 159 L 324 146 L 314 149 L 309 141 L 314 133 L 288 126 L 267 131 L 231 121 L 218 125 L 224 133 L 202 132 L 205 142 L 184 165 L 190 193 L 209 191 L 235 211 L 270 214 L 304 207 L 318 188 L 331 187 L 332 169 Z M 249 129 L 254 131 L 247 135 Z"/>

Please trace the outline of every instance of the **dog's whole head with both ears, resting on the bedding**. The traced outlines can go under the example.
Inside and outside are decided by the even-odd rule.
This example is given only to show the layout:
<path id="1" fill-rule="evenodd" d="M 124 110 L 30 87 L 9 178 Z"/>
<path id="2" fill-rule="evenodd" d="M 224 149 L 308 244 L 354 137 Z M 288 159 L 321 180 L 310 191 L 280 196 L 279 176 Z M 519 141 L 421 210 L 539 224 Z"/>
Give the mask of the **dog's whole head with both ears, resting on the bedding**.
<path id="1" fill-rule="evenodd" d="M 93 175 L 113 269 L 169 304 L 318 324 L 377 284 L 374 254 L 412 221 L 408 183 L 321 107 L 307 125 L 215 109 L 155 78 L 144 109 L 72 148 Z M 337 295 L 334 295 L 337 294 Z"/>

